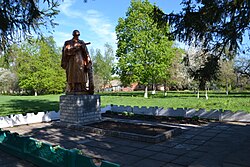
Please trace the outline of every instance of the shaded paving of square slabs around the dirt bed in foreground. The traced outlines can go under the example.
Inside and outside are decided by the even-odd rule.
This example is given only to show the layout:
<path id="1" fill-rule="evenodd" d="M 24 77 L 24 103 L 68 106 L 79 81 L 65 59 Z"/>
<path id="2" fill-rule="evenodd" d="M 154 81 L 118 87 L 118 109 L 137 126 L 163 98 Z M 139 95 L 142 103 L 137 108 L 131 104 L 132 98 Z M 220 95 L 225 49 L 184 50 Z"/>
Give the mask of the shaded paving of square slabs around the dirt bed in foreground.
<path id="1" fill-rule="evenodd" d="M 68 149 L 78 148 L 123 167 L 250 167 L 250 124 L 215 122 L 182 128 L 181 135 L 157 144 L 72 131 L 51 123 L 5 129 Z M 32 166 L 0 154 L 0 166 L 3 162 L 6 166 Z"/>

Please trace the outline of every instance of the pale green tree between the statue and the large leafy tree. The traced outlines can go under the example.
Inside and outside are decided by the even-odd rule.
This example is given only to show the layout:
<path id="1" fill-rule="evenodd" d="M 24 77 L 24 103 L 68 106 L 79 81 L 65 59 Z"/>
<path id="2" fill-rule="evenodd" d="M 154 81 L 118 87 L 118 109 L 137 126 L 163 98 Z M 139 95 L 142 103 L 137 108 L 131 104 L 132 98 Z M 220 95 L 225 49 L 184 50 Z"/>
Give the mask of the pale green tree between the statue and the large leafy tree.
<path id="1" fill-rule="evenodd" d="M 100 49 L 92 52 L 93 56 L 93 70 L 94 70 L 94 79 L 95 87 L 99 91 L 102 88 L 105 88 L 111 80 L 113 60 L 114 60 L 114 51 L 111 45 L 106 43 L 104 45 L 105 51 L 104 55 L 101 54 Z"/>

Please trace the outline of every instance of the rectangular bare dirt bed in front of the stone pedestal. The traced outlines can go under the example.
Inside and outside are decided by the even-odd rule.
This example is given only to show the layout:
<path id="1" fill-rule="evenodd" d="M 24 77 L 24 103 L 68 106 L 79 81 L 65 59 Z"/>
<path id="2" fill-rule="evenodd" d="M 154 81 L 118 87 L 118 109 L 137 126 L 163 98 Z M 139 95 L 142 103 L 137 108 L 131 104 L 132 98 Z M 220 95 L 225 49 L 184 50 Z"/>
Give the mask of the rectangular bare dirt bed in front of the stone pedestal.
<path id="1" fill-rule="evenodd" d="M 149 136 L 156 136 L 162 134 L 163 132 L 174 129 L 172 127 L 151 126 L 151 125 L 133 124 L 126 122 L 116 122 L 116 121 L 103 121 L 88 126 L 104 130 L 120 131 L 120 132 L 135 133 L 135 134 L 149 135 Z"/>

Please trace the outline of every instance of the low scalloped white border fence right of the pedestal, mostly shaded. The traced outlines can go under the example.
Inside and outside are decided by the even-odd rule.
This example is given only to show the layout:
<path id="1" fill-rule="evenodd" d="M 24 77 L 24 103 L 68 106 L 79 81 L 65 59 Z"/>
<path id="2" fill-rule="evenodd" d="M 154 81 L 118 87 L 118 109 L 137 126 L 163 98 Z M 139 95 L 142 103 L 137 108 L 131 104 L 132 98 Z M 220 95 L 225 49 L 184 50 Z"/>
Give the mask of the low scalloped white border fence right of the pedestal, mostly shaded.
<path id="1" fill-rule="evenodd" d="M 205 109 L 185 109 L 185 108 L 160 108 L 160 107 L 130 107 L 130 106 L 107 106 L 107 110 L 113 112 L 133 112 L 134 114 L 154 115 L 154 116 L 167 116 L 167 117 L 184 117 L 192 118 L 199 117 L 205 119 L 216 119 L 219 121 L 238 121 L 238 122 L 250 122 L 250 114 L 242 111 L 232 112 L 229 110 L 217 110 L 213 109 L 206 111 Z M 107 111 L 106 110 L 106 111 Z"/>

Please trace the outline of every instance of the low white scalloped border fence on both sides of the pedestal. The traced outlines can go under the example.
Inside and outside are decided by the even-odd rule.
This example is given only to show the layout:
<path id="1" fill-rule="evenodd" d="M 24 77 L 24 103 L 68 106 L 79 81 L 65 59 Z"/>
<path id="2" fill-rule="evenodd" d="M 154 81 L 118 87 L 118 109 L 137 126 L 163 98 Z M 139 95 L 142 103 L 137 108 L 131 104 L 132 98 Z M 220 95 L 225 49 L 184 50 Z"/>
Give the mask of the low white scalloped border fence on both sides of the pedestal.
<path id="1" fill-rule="evenodd" d="M 142 115 L 154 115 L 154 116 L 167 116 L 167 117 L 199 117 L 206 119 L 216 119 L 219 121 L 237 121 L 237 122 L 250 122 L 250 114 L 238 111 L 232 112 L 229 110 L 210 110 L 205 109 L 185 109 L 185 108 L 160 108 L 160 107 L 138 107 L 138 106 L 118 106 L 108 105 L 101 108 L 101 113 L 106 111 L 113 112 L 133 112 L 134 114 Z M 49 112 L 38 112 L 38 113 L 27 113 L 27 114 L 16 114 L 0 117 L 0 128 L 12 127 L 17 125 L 25 125 L 40 122 L 50 122 L 60 119 L 60 111 L 49 111 Z"/>

